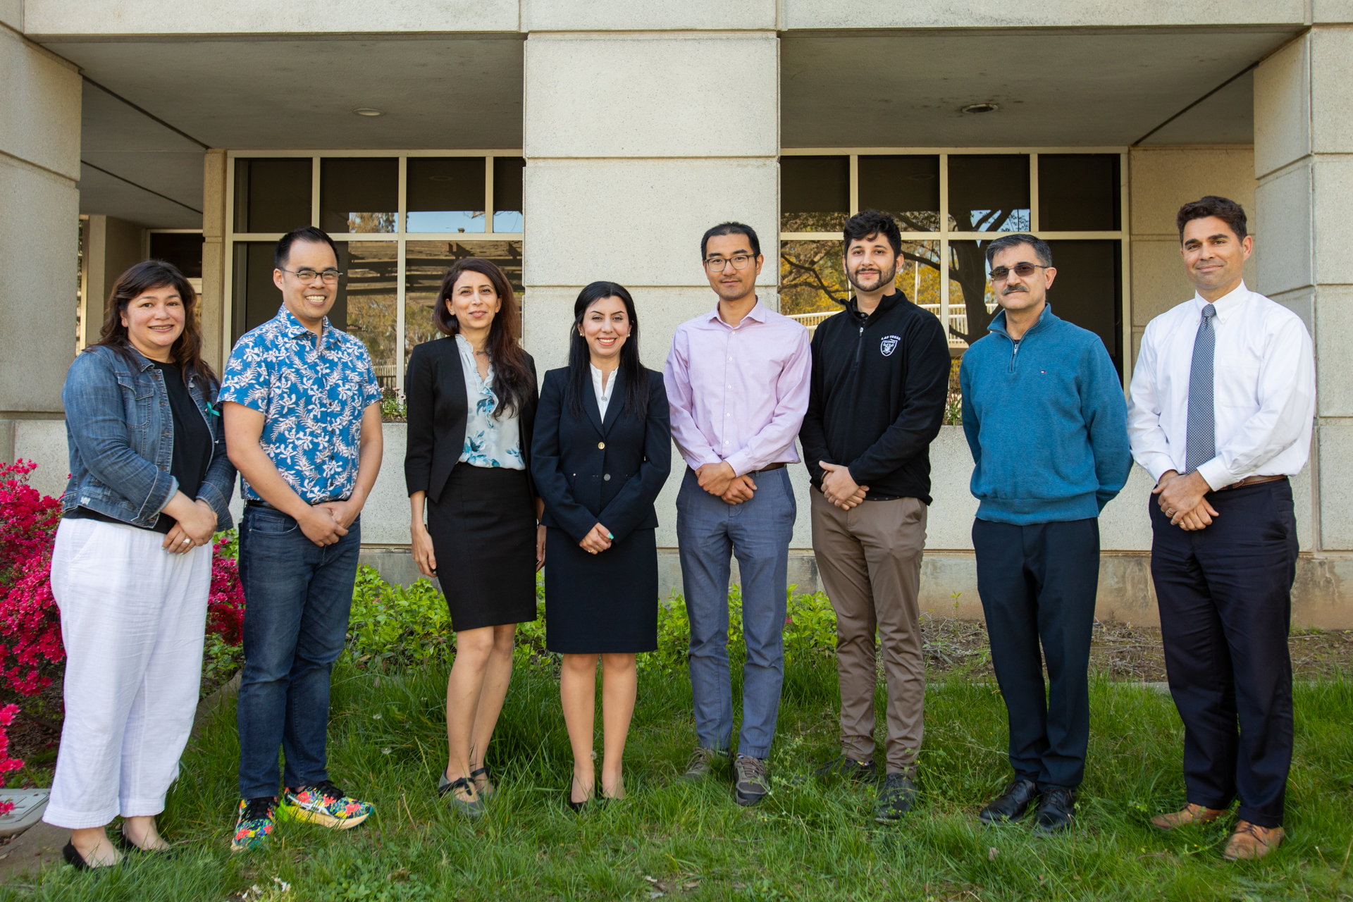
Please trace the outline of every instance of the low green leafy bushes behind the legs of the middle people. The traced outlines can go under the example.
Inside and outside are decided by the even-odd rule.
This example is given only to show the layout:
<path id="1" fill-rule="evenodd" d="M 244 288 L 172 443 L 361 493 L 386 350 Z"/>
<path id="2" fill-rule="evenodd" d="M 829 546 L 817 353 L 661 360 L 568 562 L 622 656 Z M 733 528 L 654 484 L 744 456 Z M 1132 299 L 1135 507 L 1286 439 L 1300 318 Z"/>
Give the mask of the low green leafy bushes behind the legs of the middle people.
<path id="1" fill-rule="evenodd" d="M 785 619 L 785 663 L 831 659 L 836 653 L 836 614 L 823 592 L 796 595 L 789 588 L 789 615 Z M 681 595 L 658 604 L 658 650 L 639 656 L 641 671 L 685 669 L 690 646 L 690 621 Z M 430 661 L 449 664 L 455 655 L 455 633 L 446 603 L 426 579 L 403 588 L 380 579 L 372 567 L 361 567 L 352 599 L 348 627 L 348 655 L 360 667 L 409 665 Z M 741 588 L 728 592 L 728 656 L 739 661 L 747 655 L 743 641 Z M 556 665 L 556 655 L 545 649 L 545 586 L 536 580 L 536 619 L 517 626 L 517 667 Z"/>

